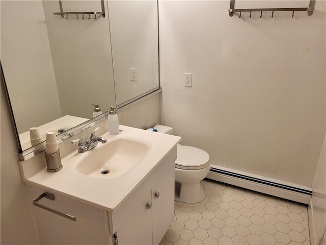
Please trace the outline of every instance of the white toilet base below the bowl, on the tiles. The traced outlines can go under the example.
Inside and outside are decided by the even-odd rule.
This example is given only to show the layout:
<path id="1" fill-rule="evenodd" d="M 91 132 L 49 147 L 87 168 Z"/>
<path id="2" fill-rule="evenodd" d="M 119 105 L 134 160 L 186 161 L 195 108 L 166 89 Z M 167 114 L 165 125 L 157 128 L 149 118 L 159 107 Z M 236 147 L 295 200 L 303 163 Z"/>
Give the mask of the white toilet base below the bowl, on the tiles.
<path id="1" fill-rule="evenodd" d="M 180 190 L 176 190 L 174 200 L 183 203 L 199 203 L 205 198 L 205 192 L 198 183 L 179 184 Z M 177 188 L 179 189 L 179 188 Z"/>

